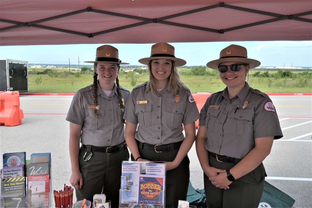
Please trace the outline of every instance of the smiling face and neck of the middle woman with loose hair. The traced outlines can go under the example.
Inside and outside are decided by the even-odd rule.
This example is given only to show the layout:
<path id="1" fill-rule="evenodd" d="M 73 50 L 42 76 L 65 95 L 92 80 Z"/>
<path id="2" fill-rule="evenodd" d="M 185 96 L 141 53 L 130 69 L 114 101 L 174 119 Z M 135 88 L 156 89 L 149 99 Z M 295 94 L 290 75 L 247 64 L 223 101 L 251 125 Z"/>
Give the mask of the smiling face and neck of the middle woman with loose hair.
<path id="1" fill-rule="evenodd" d="M 169 59 L 154 59 L 151 61 L 151 73 L 156 79 L 158 88 L 166 87 L 171 69 L 172 61 Z"/>

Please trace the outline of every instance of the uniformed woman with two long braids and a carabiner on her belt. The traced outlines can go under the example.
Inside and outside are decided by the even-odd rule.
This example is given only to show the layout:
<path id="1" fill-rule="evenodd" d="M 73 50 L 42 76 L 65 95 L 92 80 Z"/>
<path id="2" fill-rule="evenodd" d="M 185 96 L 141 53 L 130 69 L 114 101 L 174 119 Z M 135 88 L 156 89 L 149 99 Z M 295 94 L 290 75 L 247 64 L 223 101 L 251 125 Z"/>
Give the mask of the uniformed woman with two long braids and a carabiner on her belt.
<path id="1" fill-rule="evenodd" d="M 92 85 L 77 91 L 66 120 L 70 122 L 70 183 L 78 200 L 93 201 L 105 194 L 111 207 L 118 207 L 121 163 L 129 160 L 125 144 L 123 113 L 130 91 L 119 86 L 118 50 L 97 48 Z M 116 84 L 115 84 L 116 80 Z M 79 142 L 82 144 L 79 148 Z"/>

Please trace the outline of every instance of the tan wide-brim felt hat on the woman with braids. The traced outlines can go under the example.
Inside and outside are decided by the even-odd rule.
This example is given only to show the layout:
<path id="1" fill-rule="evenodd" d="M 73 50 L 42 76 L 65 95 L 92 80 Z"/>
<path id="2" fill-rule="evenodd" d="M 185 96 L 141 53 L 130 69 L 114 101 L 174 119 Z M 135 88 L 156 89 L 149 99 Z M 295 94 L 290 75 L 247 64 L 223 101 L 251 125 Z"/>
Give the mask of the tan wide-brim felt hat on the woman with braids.
<path id="1" fill-rule="evenodd" d="M 102 45 L 97 48 L 95 61 L 84 61 L 85 63 L 117 63 L 117 64 L 130 64 L 122 63 L 119 59 L 118 49 L 111 45 Z"/>

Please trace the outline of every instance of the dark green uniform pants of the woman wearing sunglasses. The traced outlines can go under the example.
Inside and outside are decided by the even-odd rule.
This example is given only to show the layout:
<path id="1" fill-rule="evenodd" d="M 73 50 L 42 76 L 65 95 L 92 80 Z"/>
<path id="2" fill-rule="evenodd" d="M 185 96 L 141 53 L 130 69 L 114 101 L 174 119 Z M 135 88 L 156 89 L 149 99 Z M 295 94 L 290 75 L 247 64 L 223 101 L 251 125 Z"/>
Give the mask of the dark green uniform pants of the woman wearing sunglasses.
<path id="1" fill-rule="evenodd" d="M 230 170 L 235 163 L 219 162 L 209 154 L 209 164 L 222 170 Z M 208 208 L 257 208 L 263 193 L 265 168 L 261 163 L 255 170 L 234 180 L 230 189 L 215 187 L 204 173 L 204 187 Z"/>

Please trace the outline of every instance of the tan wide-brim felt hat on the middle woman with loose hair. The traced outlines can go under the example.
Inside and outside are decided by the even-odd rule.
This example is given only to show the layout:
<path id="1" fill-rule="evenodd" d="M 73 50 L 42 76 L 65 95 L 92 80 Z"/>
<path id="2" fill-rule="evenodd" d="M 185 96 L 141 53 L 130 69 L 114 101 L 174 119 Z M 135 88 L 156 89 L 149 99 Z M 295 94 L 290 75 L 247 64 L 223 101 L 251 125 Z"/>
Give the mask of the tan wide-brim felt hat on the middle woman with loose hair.
<path id="1" fill-rule="evenodd" d="M 148 65 L 151 60 L 154 59 L 168 59 L 175 62 L 175 66 L 183 66 L 186 64 L 186 61 L 181 58 L 176 58 L 174 55 L 174 47 L 168 43 L 161 42 L 152 45 L 151 47 L 151 56 L 148 58 L 141 58 L 140 63 Z"/>

